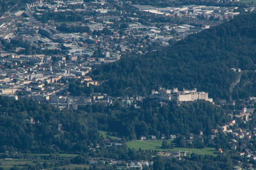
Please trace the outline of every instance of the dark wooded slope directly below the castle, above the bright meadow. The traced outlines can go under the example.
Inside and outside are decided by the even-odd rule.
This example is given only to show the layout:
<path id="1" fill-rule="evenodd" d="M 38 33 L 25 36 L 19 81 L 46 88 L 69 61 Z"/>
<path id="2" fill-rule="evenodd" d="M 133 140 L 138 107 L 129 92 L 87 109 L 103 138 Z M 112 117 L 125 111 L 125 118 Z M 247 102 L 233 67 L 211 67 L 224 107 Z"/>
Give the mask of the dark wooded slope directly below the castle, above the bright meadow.
<path id="1" fill-rule="evenodd" d="M 156 101 L 143 101 L 141 109 L 95 104 L 81 109 L 93 113 L 99 129 L 128 139 L 148 135 L 161 138 L 161 134 L 198 134 L 200 131 L 211 134 L 211 129 L 229 120 L 225 110 L 206 101 L 180 106 L 169 103 L 163 107 Z"/>

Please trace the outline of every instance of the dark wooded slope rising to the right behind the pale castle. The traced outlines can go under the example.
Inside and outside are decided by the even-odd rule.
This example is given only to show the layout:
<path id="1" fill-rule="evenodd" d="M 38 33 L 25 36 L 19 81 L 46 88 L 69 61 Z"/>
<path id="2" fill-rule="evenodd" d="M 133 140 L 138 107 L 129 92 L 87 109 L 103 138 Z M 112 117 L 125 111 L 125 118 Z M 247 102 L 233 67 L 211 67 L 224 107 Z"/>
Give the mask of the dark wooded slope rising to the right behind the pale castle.
<path id="1" fill-rule="evenodd" d="M 197 88 L 211 97 L 228 99 L 238 73 L 231 67 L 254 70 L 256 62 L 256 15 L 188 36 L 173 46 L 146 55 L 124 57 L 93 71 L 93 80 L 106 80 L 97 90 L 111 95 L 147 95 L 157 87 Z M 246 96 L 256 96 L 252 88 Z M 239 94 L 236 94 L 236 97 Z"/>

